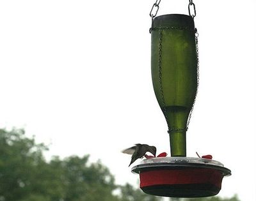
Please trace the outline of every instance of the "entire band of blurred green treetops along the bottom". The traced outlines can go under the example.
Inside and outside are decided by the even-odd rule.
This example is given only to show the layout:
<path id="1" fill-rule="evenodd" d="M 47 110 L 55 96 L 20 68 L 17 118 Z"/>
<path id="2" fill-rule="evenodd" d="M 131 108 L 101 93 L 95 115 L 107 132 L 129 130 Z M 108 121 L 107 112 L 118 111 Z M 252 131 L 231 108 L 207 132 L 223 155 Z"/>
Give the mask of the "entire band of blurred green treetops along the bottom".
<path id="1" fill-rule="evenodd" d="M 36 144 L 34 138 L 26 137 L 24 130 L 0 129 L 1 201 L 161 200 L 130 184 L 117 186 L 108 168 L 100 161 L 89 163 L 88 155 L 63 160 L 55 156 L 47 162 L 44 158 L 46 150 L 44 144 Z M 118 193 L 114 194 L 114 191 Z M 217 197 L 203 200 L 224 201 Z M 239 200 L 234 197 L 225 201 Z"/>

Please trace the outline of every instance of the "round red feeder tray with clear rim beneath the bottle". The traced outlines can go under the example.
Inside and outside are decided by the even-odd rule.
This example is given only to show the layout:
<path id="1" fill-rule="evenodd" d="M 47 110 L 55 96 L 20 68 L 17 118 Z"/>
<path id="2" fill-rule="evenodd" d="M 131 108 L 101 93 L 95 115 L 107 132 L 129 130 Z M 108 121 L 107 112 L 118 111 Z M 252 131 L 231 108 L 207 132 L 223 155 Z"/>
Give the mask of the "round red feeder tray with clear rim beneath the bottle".
<path id="1" fill-rule="evenodd" d="M 203 158 L 150 158 L 132 167 L 140 174 L 145 193 L 163 197 L 209 197 L 221 190 L 224 176 L 231 171 L 222 163 Z"/>

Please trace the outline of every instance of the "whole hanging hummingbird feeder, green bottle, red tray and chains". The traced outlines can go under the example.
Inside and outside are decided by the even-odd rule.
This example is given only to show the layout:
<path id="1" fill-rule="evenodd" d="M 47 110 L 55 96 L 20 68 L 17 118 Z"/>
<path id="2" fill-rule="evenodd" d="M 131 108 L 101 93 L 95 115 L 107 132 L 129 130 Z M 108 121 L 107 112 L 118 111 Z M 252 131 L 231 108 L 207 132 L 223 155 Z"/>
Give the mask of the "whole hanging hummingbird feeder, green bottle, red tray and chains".
<path id="1" fill-rule="evenodd" d="M 156 17 L 160 1 L 150 12 L 151 71 L 154 92 L 168 126 L 171 157 L 145 159 L 132 172 L 140 174 L 140 188 L 150 195 L 213 196 L 231 171 L 218 161 L 186 157 L 186 131 L 198 88 L 195 4 L 189 0 L 189 15 Z M 152 14 L 154 9 L 156 13 Z"/>

